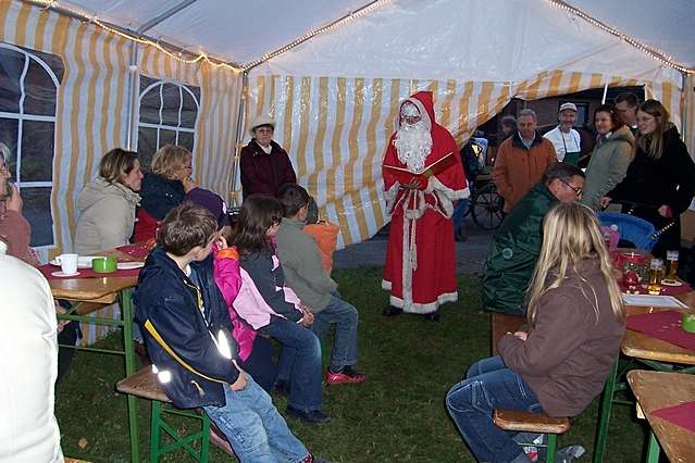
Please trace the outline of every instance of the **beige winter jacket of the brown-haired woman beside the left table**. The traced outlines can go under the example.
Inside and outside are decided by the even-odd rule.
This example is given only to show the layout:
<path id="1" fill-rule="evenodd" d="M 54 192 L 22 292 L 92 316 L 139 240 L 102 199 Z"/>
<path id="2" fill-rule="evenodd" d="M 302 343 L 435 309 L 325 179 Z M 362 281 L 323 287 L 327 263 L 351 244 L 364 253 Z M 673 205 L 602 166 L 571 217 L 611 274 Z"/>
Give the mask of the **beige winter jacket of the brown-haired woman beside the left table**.
<path id="1" fill-rule="evenodd" d="M 139 202 L 140 196 L 125 185 L 92 180 L 77 198 L 74 252 L 87 255 L 127 243 Z"/>

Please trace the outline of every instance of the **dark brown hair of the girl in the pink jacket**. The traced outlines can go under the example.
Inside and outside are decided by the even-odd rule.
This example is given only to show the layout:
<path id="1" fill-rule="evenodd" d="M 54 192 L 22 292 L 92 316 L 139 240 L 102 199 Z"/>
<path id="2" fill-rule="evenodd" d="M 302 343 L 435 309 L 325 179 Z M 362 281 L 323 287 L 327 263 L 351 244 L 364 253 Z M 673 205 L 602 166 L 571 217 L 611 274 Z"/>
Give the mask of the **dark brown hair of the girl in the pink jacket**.
<path id="1" fill-rule="evenodd" d="M 273 253 L 268 240 L 268 229 L 280 224 L 283 207 L 275 198 L 266 195 L 251 195 L 244 198 L 239 213 L 238 229 L 234 245 L 241 255 L 257 252 Z"/>

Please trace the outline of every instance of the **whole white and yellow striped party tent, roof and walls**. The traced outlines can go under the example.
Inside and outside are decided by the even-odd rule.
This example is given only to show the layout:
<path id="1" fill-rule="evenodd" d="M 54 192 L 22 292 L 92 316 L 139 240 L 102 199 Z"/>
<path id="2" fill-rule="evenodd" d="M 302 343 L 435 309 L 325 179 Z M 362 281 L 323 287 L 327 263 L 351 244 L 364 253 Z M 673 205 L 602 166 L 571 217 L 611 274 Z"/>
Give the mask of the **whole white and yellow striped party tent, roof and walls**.
<path id="1" fill-rule="evenodd" d="M 381 158 L 398 101 L 419 89 L 434 92 L 438 122 L 462 142 L 514 97 L 644 85 L 693 148 L 695 47 L 682 37 L 695 5 L 605 3 L 0 0 L 0 52 L 48 53 L 63 66 L 51 116 L 54 240 L 44 256 L 72 248 L 75 200 L 100 157 L 138 147 L 145 78 L 199 89 L 195 176 L 232 202 L 246 126 L 271 114 L 299 183 L 340 225 L 340 247 L 388 221 Z M 0 122 L 23 116 L 3 113 L 1 100 Z"/>

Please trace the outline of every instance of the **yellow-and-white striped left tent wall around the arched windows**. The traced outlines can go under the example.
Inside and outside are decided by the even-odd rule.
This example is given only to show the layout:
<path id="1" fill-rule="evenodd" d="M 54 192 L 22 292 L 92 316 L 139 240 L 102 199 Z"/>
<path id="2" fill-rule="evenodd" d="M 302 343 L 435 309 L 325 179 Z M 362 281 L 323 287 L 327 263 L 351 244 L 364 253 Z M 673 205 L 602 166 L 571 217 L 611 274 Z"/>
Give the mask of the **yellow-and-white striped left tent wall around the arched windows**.
<path id="1" fill-rule="evenodd" d="M 0 40 L 63 60 L 55 112 L 51 197 L 55 248 L 48 253 L 52 256 L 72 249 L 75 202 L 84 185 L 97 175 L 101 155 L 126 145 L 132 42 L 96 25 L 20 1 L 0 2 Z M 140 49 L 138 71 L 200 87 L 195 176 L 201 186 L 226 198 L 234 163 L 240 74 L 206 63 L 184 64 L 150 47 Z M 120 317 L 117 305 L 95 315 Z M 83 343 L 94 342 L 110 329 L 84 326 Z"/>

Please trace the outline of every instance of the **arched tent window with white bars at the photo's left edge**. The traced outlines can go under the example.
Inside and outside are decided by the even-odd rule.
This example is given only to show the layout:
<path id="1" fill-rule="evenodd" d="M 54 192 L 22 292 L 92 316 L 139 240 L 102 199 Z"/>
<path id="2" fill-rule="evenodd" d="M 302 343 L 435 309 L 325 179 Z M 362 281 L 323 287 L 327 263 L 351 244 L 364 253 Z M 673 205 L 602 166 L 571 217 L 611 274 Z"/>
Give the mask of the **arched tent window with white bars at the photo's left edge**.
<path id="1" fill-rule="evenodd" d="M 0 141 L 32 224 L 32 246 L 54 243 L 51 190 L 59 57 L 0 42 Z"/>

